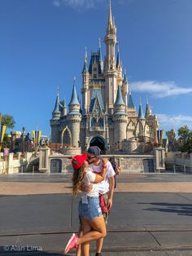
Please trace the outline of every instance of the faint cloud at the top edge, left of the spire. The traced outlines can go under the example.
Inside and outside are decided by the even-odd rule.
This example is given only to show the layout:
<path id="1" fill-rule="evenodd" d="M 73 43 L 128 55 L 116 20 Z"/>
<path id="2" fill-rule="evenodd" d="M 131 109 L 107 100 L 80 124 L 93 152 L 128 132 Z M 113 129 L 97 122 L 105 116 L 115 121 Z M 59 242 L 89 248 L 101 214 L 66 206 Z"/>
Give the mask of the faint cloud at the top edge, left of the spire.
<path id="1" fill-rule="evenodd" d="M 68 7 L 80 10 L 81 8 L 92 9 L 95 7 L 96 3 L 102 1 L 103 0 L 53 0 L 53 5 L 60 7 L 62 4 L 65 4 Z"/>

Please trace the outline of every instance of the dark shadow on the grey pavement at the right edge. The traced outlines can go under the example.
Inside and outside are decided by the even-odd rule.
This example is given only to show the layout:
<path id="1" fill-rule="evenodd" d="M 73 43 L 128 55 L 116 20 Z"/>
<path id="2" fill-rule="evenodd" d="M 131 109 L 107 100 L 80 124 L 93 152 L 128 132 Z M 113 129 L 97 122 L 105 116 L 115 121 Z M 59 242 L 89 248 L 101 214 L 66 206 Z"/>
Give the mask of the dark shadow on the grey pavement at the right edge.
<path id="1" fill-rule="evenodd" d="M 192 216 L 192 204 L 172 204 L 172 203 L 138 203 L 138 204 L 156 206 L 156 207 L 151 207 L 143 210 L 156 210 L 160 212 Z"/>

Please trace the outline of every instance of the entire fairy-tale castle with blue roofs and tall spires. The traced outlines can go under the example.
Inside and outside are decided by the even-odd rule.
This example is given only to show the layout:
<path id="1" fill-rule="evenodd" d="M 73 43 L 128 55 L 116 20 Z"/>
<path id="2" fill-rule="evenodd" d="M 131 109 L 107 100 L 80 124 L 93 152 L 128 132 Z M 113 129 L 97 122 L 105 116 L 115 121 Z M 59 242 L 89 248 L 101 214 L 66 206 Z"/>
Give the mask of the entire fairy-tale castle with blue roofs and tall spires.
<path id="1" fill-rule="evenodd" d="M 61 148 L 83 151 L 97 145 L 103 152 L 132 152 L 137 150 L 139 141 L 155 140 L 159 122 L 148 102 L 145 115 L 141 100 L 137 113 L 127 75 L 123 73 L 111 0 L 104 42 L 104 62 L 100 42 L 90 60 L 85 51 L 81 100 L 76 94 L 75 79 L 68 108 L 64 100 L 59 100 L 59 92 L 57 94 L 50 120 L 51 143 L 58 143 Z"/>

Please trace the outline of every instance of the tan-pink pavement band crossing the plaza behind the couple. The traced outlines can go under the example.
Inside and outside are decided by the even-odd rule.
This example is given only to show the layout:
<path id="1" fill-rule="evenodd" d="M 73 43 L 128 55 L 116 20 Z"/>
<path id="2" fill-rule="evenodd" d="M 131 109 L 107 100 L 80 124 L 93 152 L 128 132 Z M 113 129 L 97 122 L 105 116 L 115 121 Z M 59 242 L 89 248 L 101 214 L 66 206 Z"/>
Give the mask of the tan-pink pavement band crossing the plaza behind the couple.
<path id="1" fill-rule="evenodd" d="M 0 182 L 0 195 L 71 193 L 71 183 Z M 116 192 L 192 192 L 192 182 L 117 183 Z"/>

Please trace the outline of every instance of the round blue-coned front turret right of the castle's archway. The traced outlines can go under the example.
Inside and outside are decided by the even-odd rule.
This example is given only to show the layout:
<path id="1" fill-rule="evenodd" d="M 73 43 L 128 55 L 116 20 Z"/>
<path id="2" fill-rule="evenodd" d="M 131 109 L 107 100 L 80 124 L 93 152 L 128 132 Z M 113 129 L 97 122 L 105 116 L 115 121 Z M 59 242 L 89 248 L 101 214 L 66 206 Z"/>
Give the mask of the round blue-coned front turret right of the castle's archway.
<path id="1" fill-rule="evenodd" d="M 113 114 L 115 148 L 120 148 L 122 140 L 126 139 L 127 113 L 125 113 L 124 99 L 118 86 Z"/>

